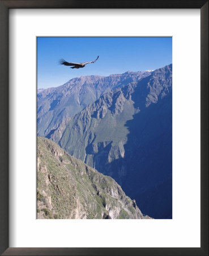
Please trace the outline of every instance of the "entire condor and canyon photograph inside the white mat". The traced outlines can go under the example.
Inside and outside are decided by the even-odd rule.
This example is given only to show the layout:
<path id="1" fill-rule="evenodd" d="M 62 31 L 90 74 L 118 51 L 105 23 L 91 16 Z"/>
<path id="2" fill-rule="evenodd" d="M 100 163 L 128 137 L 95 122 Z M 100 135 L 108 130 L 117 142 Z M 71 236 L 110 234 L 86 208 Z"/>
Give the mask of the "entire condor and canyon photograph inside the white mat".
<path id="1" fill-rule="evenodd" d="M 36 38 L 37 219 L 172 219 L 172 36 Z"/>

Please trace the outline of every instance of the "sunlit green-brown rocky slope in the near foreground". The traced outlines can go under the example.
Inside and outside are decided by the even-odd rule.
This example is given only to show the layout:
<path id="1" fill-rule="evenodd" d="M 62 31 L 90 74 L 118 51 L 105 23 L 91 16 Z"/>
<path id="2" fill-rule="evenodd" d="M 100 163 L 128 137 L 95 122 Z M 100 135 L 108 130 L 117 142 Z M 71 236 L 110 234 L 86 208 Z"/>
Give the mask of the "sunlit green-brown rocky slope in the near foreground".
<path id="1" fill-rule="evenodd" d="M 150 218 L 111 177 L 37 138 L 37 218 Z"/>

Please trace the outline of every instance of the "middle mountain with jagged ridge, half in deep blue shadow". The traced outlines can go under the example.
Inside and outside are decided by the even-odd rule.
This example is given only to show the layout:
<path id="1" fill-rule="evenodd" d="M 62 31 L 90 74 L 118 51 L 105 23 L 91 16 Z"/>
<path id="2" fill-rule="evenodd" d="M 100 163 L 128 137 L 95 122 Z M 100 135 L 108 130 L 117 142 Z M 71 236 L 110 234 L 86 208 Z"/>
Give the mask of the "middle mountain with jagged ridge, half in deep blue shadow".
<path id="1" fill-rule="evenodd" d="M 104 93 L 48 138 L 113 177 L 143 213 L 172 218 L 172 64 Z"/>

